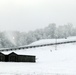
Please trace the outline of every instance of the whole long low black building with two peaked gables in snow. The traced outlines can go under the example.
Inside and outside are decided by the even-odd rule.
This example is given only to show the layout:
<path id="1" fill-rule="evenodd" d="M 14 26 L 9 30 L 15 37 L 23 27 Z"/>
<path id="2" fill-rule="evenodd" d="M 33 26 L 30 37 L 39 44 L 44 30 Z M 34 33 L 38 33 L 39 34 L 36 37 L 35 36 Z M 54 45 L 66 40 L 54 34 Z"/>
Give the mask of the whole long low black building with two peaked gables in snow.
<path id="1" fill-rule="evenodd" d="M 36 62 L 35 56 L 32 55 L 19 55 L 15 52 L 12 52 L 8 55 L 5 55 L 0 52 L 0 61 L 5 62 Z"/>

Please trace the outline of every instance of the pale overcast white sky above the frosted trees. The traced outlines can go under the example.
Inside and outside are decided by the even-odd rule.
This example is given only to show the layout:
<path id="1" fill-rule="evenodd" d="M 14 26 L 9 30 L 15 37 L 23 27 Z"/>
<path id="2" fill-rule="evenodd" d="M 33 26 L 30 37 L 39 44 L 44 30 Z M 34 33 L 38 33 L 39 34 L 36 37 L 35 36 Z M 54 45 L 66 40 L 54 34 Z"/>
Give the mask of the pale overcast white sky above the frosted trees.
<path id="1" fill-rule="evenodd" d="M 30 31 L 49 23 L 76 25 L 76 0 L 0 0 L 0 31 Z"/>

